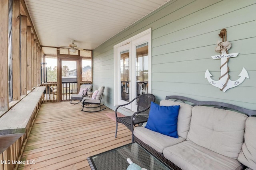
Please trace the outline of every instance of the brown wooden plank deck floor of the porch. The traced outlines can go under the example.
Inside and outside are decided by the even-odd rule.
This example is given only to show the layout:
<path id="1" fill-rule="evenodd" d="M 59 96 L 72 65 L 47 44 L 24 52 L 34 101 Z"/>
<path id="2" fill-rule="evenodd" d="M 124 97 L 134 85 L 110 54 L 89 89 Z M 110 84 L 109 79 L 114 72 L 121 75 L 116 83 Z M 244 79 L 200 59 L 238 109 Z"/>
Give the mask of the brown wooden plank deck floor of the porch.
<path id="1" fill-rule="evenodd" d="M 105 106 L 103 106 L 105 107 Z M 81 104 L 42 104 L 31 129 L 18 170 L 90 170 L 88 156 L 131 143 L 131 132 L 106 114 L 80 111 Z"/>

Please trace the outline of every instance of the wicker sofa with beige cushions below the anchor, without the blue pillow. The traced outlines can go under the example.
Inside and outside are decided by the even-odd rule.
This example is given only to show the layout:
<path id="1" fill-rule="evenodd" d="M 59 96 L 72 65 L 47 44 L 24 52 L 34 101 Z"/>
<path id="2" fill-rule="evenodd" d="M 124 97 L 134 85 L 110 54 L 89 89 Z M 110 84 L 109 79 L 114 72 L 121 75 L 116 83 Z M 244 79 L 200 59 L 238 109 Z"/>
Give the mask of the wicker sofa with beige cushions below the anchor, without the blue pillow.
<path id="1" fill-rule="evenodd" d="M 160 102 L 175 105 L 180 105 L 178 138 L 136 127 L 134 140 L 177 170 L 256 170 L 256 117 L 251 116 L 256 110 L 183 96 Z"/>

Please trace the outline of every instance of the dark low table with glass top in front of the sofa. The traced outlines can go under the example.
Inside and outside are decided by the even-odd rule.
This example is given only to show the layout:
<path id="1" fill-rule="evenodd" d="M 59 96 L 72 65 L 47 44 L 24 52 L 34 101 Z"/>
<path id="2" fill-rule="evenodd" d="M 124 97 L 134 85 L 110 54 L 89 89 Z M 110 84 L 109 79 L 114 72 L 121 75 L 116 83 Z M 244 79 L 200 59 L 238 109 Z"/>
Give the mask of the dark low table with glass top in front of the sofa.
<path id="1" fill-rule="evenodd" d="M 92 170 L 126 170 L 127 158 L 147 170 L 172 170 L 136 142 L 90 156 L 87 160 Z"/>

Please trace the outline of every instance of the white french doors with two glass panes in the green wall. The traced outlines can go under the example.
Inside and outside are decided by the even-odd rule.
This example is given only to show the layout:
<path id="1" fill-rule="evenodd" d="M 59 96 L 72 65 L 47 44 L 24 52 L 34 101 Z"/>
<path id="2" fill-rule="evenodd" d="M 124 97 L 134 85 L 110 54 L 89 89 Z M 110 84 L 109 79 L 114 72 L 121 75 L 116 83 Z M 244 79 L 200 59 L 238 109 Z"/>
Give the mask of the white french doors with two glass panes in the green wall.
<path id="1" fill-rule="evenodd" d="M 114 46 L 115 105 L 151 93 L 151 29 Z M 136 102 L 127 106 L 136 111 Z"/>

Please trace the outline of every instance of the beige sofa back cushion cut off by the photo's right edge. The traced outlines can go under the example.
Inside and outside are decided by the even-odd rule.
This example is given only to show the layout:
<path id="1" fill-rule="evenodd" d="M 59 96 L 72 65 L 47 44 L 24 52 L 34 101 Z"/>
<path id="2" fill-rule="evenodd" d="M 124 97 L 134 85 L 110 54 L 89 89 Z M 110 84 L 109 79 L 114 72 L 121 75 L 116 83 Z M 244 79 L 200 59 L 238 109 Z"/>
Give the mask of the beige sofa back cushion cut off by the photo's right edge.
<path id="1" fill-rule="evenodd" d="M 245 123 L 244 144 L 238 160 L 256 170 L 256 117 L 248 117 Z"/>

